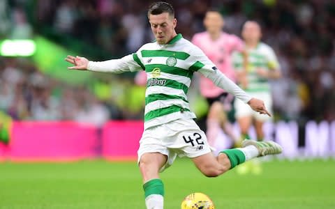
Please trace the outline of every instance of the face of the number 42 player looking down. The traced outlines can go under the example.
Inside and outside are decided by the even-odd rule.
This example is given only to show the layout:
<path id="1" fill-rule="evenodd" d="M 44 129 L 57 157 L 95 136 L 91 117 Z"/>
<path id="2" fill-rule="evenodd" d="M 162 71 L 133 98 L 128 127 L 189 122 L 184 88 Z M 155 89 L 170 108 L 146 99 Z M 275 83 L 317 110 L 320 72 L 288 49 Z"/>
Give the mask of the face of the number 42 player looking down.
<path id="1" fill-rule="evenodd" d="M 175 36 L 174 29 L 177 26 L 177 20 L 169 13 L 149 15 L 149 22 L 158 44 L 165 45 Z"/>

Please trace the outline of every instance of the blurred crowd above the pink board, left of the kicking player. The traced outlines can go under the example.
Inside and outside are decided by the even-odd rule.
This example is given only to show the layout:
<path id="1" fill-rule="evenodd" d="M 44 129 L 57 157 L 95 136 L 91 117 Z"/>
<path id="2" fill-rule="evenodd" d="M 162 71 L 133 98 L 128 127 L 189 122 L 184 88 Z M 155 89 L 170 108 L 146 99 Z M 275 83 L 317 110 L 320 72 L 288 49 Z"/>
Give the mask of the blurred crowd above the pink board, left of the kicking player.
<path id="1" fill-rule="evenodd" d="M 110 119 L 143 116 L 144 87 L 126 79 L 110 81 L 107 94 L 113 97 L 107 98 L 103 82 L 73 86 L 43 74 L 29 59 L 0 58 L 0 86 L 0 111 L 17 121 L 77 121 L 101 127 Z M 136 102 L 140 105 L 133 108 Z"/>

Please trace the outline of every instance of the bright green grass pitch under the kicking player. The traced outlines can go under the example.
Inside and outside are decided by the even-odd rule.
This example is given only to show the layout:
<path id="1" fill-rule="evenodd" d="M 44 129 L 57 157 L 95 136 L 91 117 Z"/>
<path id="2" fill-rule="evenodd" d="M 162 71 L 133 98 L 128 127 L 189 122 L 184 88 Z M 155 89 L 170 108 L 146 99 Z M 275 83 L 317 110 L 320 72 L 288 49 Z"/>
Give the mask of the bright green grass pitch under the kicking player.
<path id="1" fill-rule="evenodd" d="M 264 162 L 263 172 L 232 170 L 205 178 L 188 159 L 161 174 L 165 208 L 178 209 L 184 196 L 203 192 L 218 209 L 335 208 L 335 161 Z M 1 209 L 144 209 L 135 162 L 103 160 L 55 164 L 0 163 Z"/>

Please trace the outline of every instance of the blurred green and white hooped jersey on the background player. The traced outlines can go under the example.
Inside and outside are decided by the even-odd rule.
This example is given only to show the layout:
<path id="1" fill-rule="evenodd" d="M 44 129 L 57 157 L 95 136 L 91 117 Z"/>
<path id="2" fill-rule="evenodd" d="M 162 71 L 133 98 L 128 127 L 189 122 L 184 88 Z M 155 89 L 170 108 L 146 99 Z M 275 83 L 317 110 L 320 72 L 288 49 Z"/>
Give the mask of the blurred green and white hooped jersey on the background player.
<path id="1" fill-rule="evenodd" d="M 268 79 L 257 75 L 256 70 L 280 70 L 274 50 L 263 42 L 260 42 L 255 49 L 248 49 L 248 88 L 247 92 L 269 92 L 270 85 Z M 243 56 L 239 52 L 234 52 L 232 62 L 235 70 L 244 70 Z"/>

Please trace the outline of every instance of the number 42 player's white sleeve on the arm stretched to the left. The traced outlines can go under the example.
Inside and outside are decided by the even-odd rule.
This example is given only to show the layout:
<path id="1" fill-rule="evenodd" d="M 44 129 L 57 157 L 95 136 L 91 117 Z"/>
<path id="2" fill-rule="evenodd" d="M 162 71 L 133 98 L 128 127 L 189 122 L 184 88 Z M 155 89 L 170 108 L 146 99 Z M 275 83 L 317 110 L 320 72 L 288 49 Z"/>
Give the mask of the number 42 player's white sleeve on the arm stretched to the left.
<path id="1" fill-rule="evenodd" d="M 96 72 L 135 72 L 144 69 L 144 65 L 137 56 L 137 53 L 129 54 L 121 59 L 111 59 L 108 61 L 89 61 L 87 70 Z"/>

